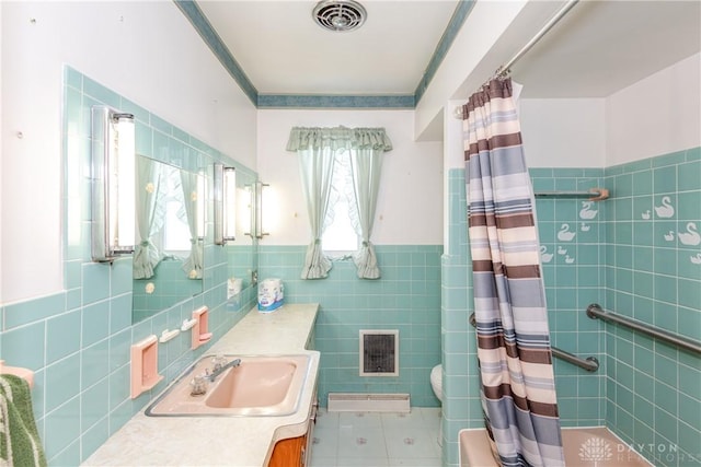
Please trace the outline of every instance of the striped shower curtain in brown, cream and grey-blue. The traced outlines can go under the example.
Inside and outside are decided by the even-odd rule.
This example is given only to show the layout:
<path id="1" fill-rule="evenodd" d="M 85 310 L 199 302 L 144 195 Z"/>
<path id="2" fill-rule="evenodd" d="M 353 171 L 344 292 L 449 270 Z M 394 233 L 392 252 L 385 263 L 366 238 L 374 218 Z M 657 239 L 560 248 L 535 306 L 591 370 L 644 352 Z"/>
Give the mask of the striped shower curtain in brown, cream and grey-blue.
<path id="1" fill-rule="evenodd" d="M 510 79 L 462 107 L 482 404 L 504 466 L 563 466 L 533 195 Z"/>

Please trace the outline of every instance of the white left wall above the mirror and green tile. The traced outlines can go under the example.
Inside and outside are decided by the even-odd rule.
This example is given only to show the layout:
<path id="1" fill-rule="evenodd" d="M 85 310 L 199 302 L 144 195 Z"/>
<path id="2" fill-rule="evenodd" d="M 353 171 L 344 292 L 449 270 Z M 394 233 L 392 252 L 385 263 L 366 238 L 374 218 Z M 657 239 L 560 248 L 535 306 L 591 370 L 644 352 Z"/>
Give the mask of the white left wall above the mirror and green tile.
<path id="1" fill-rule="evenodd" d="M 174 2 L 0 9 L 2 303 L 62 290 L 64 63 L 255 168 L 256 110 Z"/>

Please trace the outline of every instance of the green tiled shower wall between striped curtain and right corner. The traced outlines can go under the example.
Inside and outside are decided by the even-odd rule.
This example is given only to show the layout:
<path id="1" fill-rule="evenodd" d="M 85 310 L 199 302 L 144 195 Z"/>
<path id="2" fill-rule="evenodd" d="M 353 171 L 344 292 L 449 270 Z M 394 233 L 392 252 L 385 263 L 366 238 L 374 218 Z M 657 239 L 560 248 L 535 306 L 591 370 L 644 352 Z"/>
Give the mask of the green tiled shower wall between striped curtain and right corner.
<path id="1" fill-rule="evenodd" d="M 536 194 L 589 191 L 604 184 L 601 168 L 531 168 L 530 175 Z M 554 360 L 563 427 L 602 425 L 605 420 L 605 339 L 585 310 L 602 300 L 607 209 L 608 201 L 586 197 L 536 197 L 552 345 L 600 363 L 589 373 Z"/>

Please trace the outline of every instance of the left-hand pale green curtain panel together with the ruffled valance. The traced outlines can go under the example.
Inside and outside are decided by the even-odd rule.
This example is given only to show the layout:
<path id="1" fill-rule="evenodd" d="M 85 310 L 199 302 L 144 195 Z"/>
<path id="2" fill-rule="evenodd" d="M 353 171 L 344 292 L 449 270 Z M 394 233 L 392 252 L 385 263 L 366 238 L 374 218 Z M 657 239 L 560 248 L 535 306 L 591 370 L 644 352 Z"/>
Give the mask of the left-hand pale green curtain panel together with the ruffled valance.
<path id="1" fill-rule="evenodd" d="M 287 151 L 296 152 L 298 155 L 312 231 L 312 240 L 307 248 L 301 272 L 302 279 L 322 279 L 327 277 L 331 270 L 331 261 L 323 254 L 321 236 L 327 222 L 334 160 L 337 153 L 357 148 L 389 151 L 392 145 L 383 128 L 295 127 L 290 131 Z M 376 198 L 377 195 L 374 199 Z"/>

